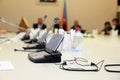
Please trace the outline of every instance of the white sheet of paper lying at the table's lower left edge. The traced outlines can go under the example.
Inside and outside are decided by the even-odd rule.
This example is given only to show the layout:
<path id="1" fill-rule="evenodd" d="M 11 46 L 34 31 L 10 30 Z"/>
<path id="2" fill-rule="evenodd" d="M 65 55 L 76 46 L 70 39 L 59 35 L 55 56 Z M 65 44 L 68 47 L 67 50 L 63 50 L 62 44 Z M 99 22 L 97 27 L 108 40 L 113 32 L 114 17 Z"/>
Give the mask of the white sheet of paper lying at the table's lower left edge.
<path id="1" fill-rule="evenodd" d="M 0 71 L 13 70 L 14 66 L 10 61 L 0 61 Z"/>

